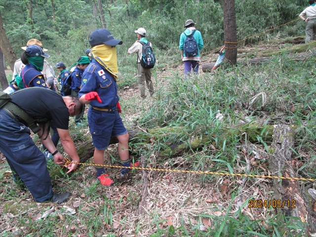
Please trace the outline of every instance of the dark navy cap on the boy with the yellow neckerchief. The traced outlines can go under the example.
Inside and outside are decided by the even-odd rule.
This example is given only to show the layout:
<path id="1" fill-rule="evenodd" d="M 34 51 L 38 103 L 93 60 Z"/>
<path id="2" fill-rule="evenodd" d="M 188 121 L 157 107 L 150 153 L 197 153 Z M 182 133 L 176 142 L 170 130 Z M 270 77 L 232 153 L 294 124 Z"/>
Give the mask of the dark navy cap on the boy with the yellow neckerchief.
<path id="1" fill-rule="evenodd" d="M 117 44 L 122 44 L 123 41 L 114 39 L 107 29 L 98 29 L 91 33 L 89 43 L 91 47 L 101 44 L 116 46 Z"/>

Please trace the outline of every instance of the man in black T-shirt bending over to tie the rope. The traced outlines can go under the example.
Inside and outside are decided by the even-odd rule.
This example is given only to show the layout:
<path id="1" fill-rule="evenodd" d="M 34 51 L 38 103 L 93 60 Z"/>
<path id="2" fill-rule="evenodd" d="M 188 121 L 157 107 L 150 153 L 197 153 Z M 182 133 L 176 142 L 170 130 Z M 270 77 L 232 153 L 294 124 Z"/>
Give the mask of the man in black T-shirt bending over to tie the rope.
<path id="1" fill-rule="evenodd" d="M 45 54 L 45 56 L 48 55 Z M 28 128 L 31 124 L 27 124 L 21 118 L 24 114 L 21 109 L 34 118 L 37 124 L 40 124 L 38 132 L 40 140 L 54 156 L 54 162 L 63 165 L 65 159 L 51 141 L 49 129 L 47 129 L 49 122 L 57 127 L 61 144 L 69 157 L 73 159 L 66 166 L 69 169 L 67 173 L 70 173 L 77 168 L 74 162 L 79 162 L 79 156 L 69 134 L 69 116 L 79 114 L 82 104 L 75 96 L 61 97 L 54 91 L 40 87 L 18 90 L 11 97 L 12 104 L 8 102 L 0 109 L 0 150 L 12 170 L 13 179 L 17 183 L 22 181 L 20 184 L 25 184 L 35 201 L 51 201 L 60 204 L 66 201 L 71 193 L 53 192 L 46 158 L 33 142 Z M 7 106 L 10 104 L 15 109 L 8 109 Z M 14 113 L 15 110 L 20 117 Z"/>

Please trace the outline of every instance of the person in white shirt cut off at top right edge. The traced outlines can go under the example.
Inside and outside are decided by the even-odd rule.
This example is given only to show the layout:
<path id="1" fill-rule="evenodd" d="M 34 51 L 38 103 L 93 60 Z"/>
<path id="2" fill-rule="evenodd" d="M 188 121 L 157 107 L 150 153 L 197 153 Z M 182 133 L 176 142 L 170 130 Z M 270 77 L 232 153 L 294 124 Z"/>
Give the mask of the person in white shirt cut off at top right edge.
<path id="1" fill-rule="evenodd" d="M 304 22 L 307 22 L 305 43 L 310 42 L 311 38 L 315 37 L 316 34 L 316 0 L 309 2 L 310 6 L 306 7 L 299 15 Z"/>

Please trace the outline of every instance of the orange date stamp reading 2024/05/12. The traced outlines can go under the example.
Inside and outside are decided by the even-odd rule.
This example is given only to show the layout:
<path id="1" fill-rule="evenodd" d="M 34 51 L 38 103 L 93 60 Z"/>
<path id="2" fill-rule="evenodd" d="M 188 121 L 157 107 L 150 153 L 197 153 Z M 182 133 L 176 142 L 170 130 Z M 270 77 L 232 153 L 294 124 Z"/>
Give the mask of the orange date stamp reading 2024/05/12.
<path id="1" fill-rule="evenodd" d="M 296 208 L 295 200 L 249 200 L 248 207 L 249 208 Z"/>

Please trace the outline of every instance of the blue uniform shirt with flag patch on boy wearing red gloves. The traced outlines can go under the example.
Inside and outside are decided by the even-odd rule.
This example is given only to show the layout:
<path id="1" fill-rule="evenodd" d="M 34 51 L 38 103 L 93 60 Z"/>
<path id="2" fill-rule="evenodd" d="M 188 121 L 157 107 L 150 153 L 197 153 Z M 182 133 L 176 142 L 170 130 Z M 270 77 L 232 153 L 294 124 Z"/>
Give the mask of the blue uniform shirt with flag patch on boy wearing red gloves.
<path id="1" fill-rule="evenodd" d="M 118 85 L 113 76 L 105 70 L 96 60 L 84 70 L 82 75 L 82 84 L 79 91 L 79 98 L 86 93 L 96 91 L 102 103 L 97 100 L 91 100 L 92 107 L 115 109 L 119 101 Z"/>

